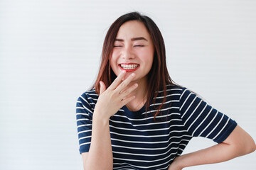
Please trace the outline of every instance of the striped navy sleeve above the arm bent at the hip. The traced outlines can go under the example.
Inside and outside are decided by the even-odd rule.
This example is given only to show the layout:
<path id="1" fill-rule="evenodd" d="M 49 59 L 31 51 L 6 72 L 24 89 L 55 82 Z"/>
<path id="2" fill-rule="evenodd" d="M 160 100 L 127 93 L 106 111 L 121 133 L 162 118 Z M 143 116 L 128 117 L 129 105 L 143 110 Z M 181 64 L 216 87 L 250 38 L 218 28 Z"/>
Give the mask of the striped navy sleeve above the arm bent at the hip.
<path id="1" fill-rule="evenodd" d="M 186 87 L 181 91 L 179 110 L 185 127 L 193 137 L 207 137 L 220 143 L 237 125 L 234 120 L 208 105 Z"/>

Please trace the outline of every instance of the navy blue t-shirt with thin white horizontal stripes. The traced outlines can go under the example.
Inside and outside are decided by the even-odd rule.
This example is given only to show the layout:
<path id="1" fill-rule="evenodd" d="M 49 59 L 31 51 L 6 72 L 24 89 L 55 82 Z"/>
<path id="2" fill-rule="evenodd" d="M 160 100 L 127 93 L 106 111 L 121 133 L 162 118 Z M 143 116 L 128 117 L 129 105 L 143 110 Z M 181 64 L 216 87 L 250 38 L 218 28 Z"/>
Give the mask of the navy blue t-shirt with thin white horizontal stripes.
<path id="1" fill-rule="evenodd" d="M 168 169 L 192 137 L 223 142 L 237 123 L 220 113 L 185 87 L 168 85 L 166 102 L 154 121 L 154 104 L 139 111 L 123 106 L 110 118 L 113 169 Z M 155 105 L 161 104 L 159 91 Z M 80 154 L 88 152 L 92 135 L 92 114 L 98 95 L 95 89 L 77 101 L 76 118 Z"/>

